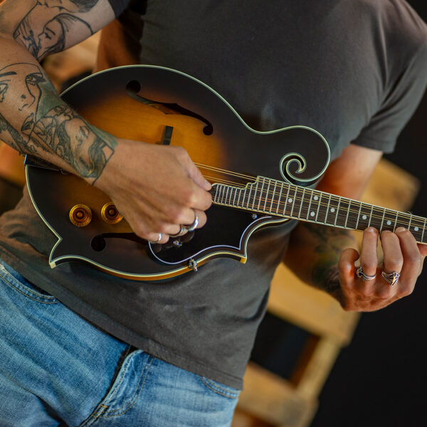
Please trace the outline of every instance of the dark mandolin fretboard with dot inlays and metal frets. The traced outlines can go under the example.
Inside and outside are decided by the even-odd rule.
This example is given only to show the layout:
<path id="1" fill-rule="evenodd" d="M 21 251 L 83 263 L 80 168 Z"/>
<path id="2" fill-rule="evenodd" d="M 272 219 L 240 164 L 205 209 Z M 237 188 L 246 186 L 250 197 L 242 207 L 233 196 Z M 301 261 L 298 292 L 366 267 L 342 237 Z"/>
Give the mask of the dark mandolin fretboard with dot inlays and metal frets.
<path id="1" fill-rule="evenodd" d="M 371 226 L 380 232 L 404 227 L 427 244 L 427 218 L 263 176 L 244 187 L 214 184 L 211 192 L 214 204 L 326 226 L 360 231 Z"/>

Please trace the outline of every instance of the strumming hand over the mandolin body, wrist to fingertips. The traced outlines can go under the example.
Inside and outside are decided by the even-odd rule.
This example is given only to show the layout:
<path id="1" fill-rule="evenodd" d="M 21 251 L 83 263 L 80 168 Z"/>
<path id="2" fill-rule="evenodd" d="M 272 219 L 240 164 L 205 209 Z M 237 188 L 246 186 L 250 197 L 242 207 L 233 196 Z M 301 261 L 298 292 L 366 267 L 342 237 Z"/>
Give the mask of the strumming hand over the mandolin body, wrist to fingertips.
<path id="1" fill-rule="evenodd" d="M 108 194 L 132 230 L 141 238 L 166 243 L 181 225 L 211 206 L 211 184 L 181 147 L 118 139 L 115 153 L 95 186 Z"/>

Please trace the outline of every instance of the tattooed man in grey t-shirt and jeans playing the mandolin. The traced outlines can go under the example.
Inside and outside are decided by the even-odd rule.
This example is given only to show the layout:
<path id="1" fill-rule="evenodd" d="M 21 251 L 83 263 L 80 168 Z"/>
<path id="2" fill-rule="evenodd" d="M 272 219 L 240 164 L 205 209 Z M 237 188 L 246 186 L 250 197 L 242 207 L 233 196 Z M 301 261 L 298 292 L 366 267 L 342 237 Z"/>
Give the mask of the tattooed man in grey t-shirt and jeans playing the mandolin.
<path id="1" fill-rule="evenodd" d="M 29 0 L 1 6 L 0 69 L 38 68 L 45 52 L 16 32 L 36 6 Z M 426 24 L 404 0 L 99 0 L 86 9 L 67 13 L 93 31 L 124 11 L 103 33 L 98 68 L 174 68 L 221 93 L 255 129 L 317 129 L 334 159 L 317 188 L 352 199 L 381 153 L 393 149 L 426 86 Z M 33 25 L 44 28 L 60 14 L 51 10 Z M 70 21 L 56 46 L 80 40 Z M 84 120 L 40 81 L 28 129 L 21 101 L 8 97 L 9 77 L 0 75 L 8 88 L 0 103 L 4 142 L 105 191 L 149 241 L 166 243 L 195 218 L 204 226 L 211 186 L 182 149 L 115 138 L 85 122 L 90 149 L 85 162 L 76 162 Z M 46 140 L 32 136 L 43 135 L 36 131 L 46 124 Z M 246 265 L 212 260 L 159 285 L 114 278 L 85 263 L 51 270 L 47 256 L 56 239 L 27 192 L 2 218 L 0 232 L 5 426 L 227 426 L 270 278 L 285 253 L 307 283 L 330 292 L 345 310 L 360 311 L 409 295 L 427 253 L 410 231 L 384 231 L 377 267 L 374 228 L 364 231 L 359 254 L 347 231 L 290 221 L 255 233 Z M 358 258 L 362 268 L 355 270 Z"/>

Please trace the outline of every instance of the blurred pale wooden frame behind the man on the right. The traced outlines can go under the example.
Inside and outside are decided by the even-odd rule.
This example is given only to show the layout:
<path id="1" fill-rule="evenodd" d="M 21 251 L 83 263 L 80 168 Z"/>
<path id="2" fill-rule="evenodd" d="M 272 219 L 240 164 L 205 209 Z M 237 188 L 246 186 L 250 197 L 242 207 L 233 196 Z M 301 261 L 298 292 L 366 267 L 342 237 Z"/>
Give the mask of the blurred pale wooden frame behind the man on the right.
<path id="1" fill-rule="evenodd" d="M 363 201 L 406 211 L 418 189 L 419 183 L 411 174 L 383 159 Z M 358 233 L 359 241 L 361 237 Z M 359 314 L 344 312 L 334 298 L 302 283 L 285 265 L 278 267 L 273 278 L 268 312 L 310 332 L 315 339 L 303 352 L 292 379 L 283 379 L 253 362 L 248 364 L 232 426 L 310 426 L 322 386 L 339 350 L 351 341 Z"/>

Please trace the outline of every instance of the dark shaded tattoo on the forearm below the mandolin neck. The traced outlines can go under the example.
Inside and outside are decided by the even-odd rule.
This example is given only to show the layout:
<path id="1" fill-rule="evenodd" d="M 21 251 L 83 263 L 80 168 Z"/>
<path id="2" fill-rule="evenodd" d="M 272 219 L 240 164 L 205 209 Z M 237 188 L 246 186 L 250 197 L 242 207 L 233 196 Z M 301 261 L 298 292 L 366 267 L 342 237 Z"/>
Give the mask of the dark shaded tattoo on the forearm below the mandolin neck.
<path id="1" fill-rule="evenodd" d="M 303 223 L 303 226 L 318 242 L 314 248 L 316 255 L 312 269 L 312 283 L 322 290 L 332 293 L 339 290 L 337 263 L 342 249 L 354 246 L 355 239 L 351 232 L 342 228 L 319 226 Z"/>

